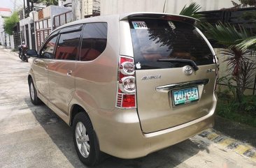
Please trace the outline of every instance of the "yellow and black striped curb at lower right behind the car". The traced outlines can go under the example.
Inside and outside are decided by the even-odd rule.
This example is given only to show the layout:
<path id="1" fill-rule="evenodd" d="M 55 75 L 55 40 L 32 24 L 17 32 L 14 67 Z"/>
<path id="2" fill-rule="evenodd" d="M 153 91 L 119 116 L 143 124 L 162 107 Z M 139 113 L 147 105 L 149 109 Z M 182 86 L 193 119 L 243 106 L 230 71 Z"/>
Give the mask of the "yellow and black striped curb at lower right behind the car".
<path id="1" fill-rule="evenodd" d="M 199 136 L 210 140 L 211 142 L 217 144 L 218 146 L 222 146 L 224 148 L 232 150 L 238 153 L 239 155 L 242 155 L 256 162 L 256 148 L 250 146 L 250 144 L 246 144 L 240 142 L 237 139 L 233 139 L 226 135 L 222 135 L 221 132 L 218 132 L 213 128 L 201 132 Z"/>

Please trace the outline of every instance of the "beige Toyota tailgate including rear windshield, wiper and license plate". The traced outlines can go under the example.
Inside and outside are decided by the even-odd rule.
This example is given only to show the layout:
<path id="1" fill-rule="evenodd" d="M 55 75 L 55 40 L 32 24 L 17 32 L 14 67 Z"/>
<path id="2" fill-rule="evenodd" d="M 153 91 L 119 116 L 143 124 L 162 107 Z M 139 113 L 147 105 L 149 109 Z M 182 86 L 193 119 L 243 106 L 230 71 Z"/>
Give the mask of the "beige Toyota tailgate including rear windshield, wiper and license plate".
<path id="1" fill-rule="evenodd" d="M 129 26 L 143 132 L 208 114 L 213 105 L 215 56 L 201 32 L 178 20 L 131 19 Z"/>

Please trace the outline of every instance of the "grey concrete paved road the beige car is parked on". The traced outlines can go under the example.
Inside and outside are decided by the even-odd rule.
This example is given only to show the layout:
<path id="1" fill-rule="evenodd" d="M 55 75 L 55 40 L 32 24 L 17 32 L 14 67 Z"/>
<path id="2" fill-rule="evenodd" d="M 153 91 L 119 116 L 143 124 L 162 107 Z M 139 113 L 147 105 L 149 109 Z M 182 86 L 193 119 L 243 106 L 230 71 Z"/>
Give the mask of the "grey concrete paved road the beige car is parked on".
<path id="1" fill-rule="evenodd" d="M 85 167 L 76 155 L 69 126 L 48 107 L 31 104 L 29 66 L 0 49 L 0 167 Z M 195 136 L 144 158 L 110 156 L 97 167 L 249 168 L 256 162 Z"/>

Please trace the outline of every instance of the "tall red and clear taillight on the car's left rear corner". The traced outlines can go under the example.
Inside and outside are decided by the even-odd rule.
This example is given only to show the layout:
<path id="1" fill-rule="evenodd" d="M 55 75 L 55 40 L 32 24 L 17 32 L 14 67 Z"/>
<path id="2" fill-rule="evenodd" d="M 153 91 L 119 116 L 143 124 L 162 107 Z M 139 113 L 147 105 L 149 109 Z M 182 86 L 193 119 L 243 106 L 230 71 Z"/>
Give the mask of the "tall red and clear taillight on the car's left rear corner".
<path id="1" fill-rule="evenodd" d="M 136 107 L 136 83 L 134 72 L 134 59 L 129 56 L 120 56 L 116 107 Z"/>

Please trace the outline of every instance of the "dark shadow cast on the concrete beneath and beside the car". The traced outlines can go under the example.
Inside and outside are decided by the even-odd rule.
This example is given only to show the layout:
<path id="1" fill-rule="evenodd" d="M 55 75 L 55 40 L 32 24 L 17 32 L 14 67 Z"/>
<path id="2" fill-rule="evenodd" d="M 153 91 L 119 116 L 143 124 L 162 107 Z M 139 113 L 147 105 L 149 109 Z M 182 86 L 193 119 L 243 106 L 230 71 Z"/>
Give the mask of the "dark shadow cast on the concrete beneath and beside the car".
<path id="1" fill-rule="evenodd" d="M 67 160 L 73 167 L 85 167 L 76 155 L 73 146 L 72 132 L 62 119 L 59 118 L 51 109 L 45 105 L 36 107 L 31 104 L 30 100 L 25 100 L 29 109 L 36 117 L 36 120 L 44 128 L 45 132 L 50 136 L 52 142 L 56 144 L 60 151 L 65 155 Z M 209 153 L 207 144 L 202 145 L 187 139 L 184 142 L 173 145 L 169 148 L 151 153 L 143 158 L 124 160 L 113 156 L 106 157 L 97 168 L 113 168 L 113 167 L 134 167 L 134 168 L 151 168 L 151 167 L 176 167 L 185 160 L 191 158 L 199 151 Z"/>

